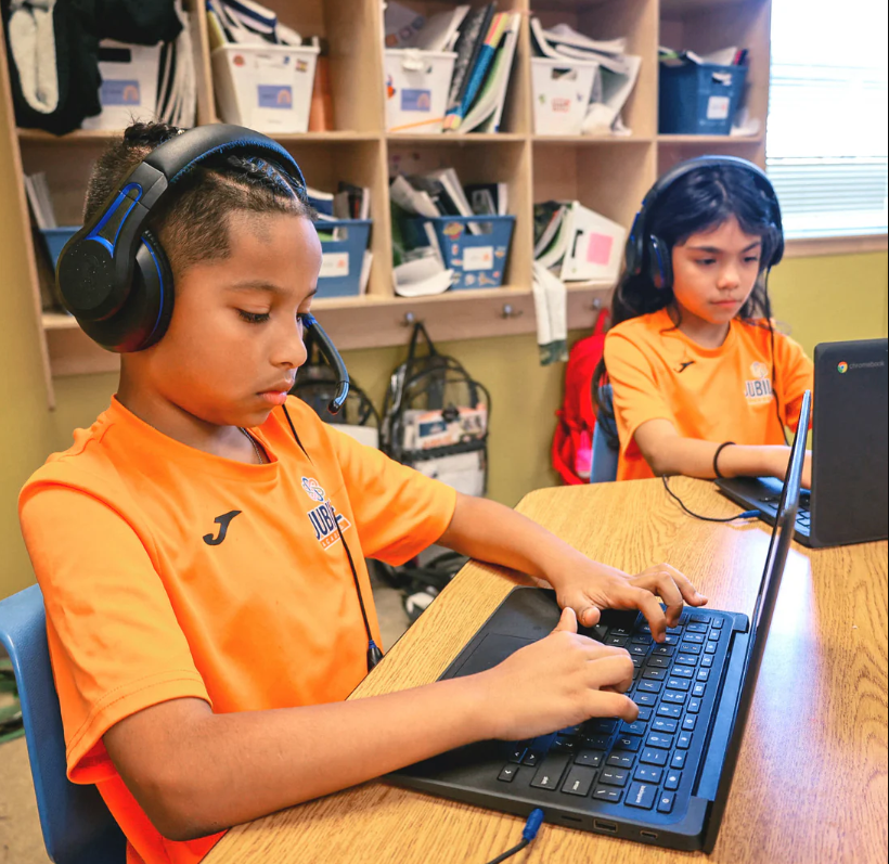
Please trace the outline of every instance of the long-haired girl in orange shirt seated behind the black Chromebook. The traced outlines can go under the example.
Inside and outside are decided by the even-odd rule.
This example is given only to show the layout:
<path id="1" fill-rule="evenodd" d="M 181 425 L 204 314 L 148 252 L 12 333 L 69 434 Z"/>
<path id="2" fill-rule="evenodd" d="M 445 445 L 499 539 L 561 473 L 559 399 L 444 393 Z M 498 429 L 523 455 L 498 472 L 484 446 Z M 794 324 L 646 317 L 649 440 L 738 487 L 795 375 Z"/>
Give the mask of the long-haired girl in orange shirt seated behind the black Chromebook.
<path id="1" fill-rule="evenodd" d="M 774 190 L 743 159 L 688 160 L 646 195 L 593 376 L 613 387 L 619 480 L 784 477 L 812 363 L 772 325 L 783 245 Z"/>

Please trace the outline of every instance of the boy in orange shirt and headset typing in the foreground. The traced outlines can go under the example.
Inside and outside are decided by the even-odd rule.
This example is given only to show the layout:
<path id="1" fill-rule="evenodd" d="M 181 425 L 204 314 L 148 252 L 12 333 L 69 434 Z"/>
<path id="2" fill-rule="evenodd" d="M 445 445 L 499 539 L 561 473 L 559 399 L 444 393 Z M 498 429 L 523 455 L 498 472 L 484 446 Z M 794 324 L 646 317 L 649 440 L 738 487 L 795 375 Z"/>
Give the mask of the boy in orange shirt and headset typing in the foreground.
<path id="1" fill-rule="evenodd" d="M 134 126 L 96 163 L 85 221 L 60 286 L 121 351 L 120 383 L 20 516 L 68 775 L 96 784 L 131 864 L 193 864 L 230 825 L 474 740 L 636 718 L 629 655 L 577 622 L 641 608 L 662 641 L 683 599 L 706 603 L 683 576 L 596 564 L 288 397 L 321 248 L 286 152 L 237 127 Z M 557 632 L 480 674 L 344 701 L 378 640 L 365 556 L 430 543 L 547 580 Z"/>

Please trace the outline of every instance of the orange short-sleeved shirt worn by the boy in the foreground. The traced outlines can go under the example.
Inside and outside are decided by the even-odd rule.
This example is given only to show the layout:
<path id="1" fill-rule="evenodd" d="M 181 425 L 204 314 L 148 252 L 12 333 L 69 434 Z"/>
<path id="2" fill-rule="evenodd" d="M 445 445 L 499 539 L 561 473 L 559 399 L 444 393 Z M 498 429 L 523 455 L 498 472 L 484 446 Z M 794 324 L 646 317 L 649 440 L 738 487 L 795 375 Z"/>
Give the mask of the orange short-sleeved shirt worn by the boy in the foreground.
<path id="1" fill-rule="evenodd" d="M 400 564 L 435 542 L 455 492 L 322 423 L 304 402 L 253 429 L 270 464 L 182 444 L 116 399 L 20 497 L 47 632 L 68 776 L 95 783 L 130 864 L 192 864 L 221 835 L 163 838 L 102 736 L 124 718 L 194 697 L 216 713 L 345 699 L 375 641 L 364 556 Z M 245 746 L 248 743 L 245 742 Z"/>

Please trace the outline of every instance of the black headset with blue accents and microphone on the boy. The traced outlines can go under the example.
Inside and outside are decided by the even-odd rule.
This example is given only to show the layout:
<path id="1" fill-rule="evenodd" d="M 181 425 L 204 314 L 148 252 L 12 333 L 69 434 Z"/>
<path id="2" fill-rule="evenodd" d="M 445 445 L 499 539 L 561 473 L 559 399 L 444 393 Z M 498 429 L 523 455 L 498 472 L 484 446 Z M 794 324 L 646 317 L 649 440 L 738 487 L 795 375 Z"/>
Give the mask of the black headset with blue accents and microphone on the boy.
<path id="1" fill-rule="evenodd" d="M 220 153 L 259 156 L 285 178 L 295 197 L 307 201 L 299 166 L 270 138 L 241 126 L 215 124 L 181 132 L 155 147 L 120 182 L 99 212 L 65 244 L 55 283 L 65 308 L 103 348 L 141 351 L 166 333 L 172 317 L 172 271 L 145 223 L 152 209 L 175 194 L 175 185 L 195 166 Z M 336 413 L 349 391 L 343 358 L 312 315 L 304 318 L 335 370 Z"/>

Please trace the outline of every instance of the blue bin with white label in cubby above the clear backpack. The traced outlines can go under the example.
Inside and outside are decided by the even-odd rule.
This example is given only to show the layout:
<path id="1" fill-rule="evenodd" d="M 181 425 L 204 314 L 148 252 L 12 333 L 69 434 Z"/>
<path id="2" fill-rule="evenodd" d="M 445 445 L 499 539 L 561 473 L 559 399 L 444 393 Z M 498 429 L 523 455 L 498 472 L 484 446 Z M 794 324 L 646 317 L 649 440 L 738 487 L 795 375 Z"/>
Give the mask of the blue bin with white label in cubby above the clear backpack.
<path id="1" fill-rule="evenodd" d="M 495 288 L 503 284 L 510 256 L 514 216 L 438 216 L 416 219 L 425 244 L 425 224 L 431 223 L 445 266 L 454 271 L 452 288 Z M 469 222 L 481 228 L 473 234 Z"/>

